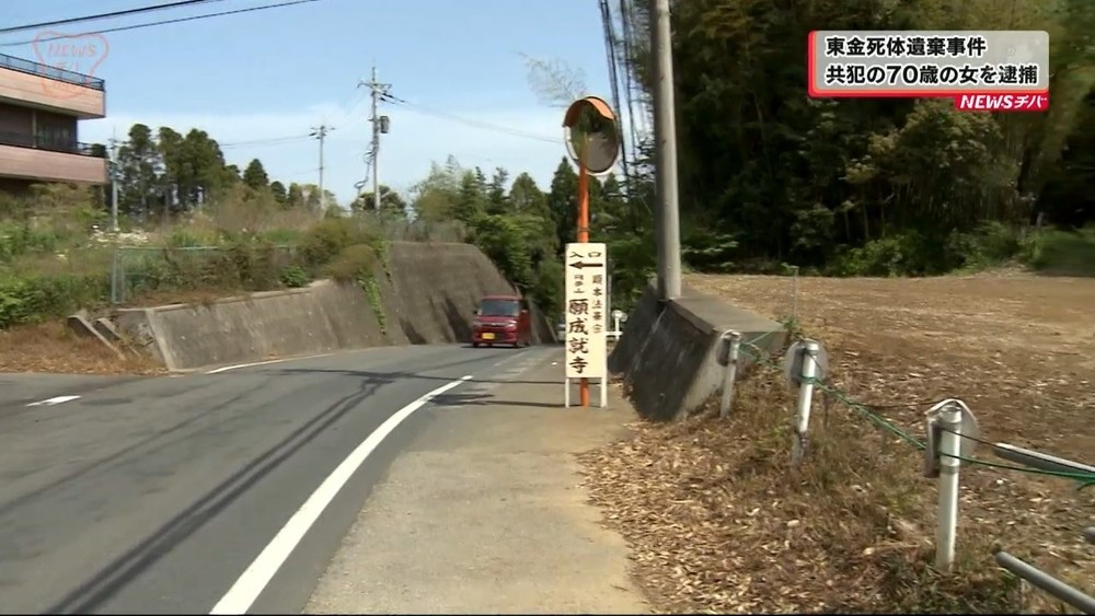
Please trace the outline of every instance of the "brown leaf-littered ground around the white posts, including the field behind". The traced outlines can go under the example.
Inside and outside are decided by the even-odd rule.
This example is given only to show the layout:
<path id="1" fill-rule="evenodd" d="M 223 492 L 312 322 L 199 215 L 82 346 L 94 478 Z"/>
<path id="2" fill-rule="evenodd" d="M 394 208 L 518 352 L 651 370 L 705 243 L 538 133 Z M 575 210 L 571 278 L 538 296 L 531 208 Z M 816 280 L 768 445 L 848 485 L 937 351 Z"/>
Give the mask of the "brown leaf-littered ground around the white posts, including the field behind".
<path id="1" fill-rule="evenodd" d="M 687 282 L 782 318 L 792 281 Z M 802 278 L 797 324 L 829 350 L 832 383 L 917 438 L 947 397 L 982 437 L 1095 463 L 1095 280 L 981 275 Z M 708 410 L 584 454 L 587 481 L 632 543 L 635 573 L 666 612 L 1057 612 L 998 569 L 992 548 L 1095 592 L 1095 488 L 964 466 L 958 561 L 932 562 L 935 483 L 919 450 L 820 396 L 807 462 L 789 464 L 792 393 L 759 369 L 734 416 Z M 977 457 L 1002 462 L 981 448 Z"/>

